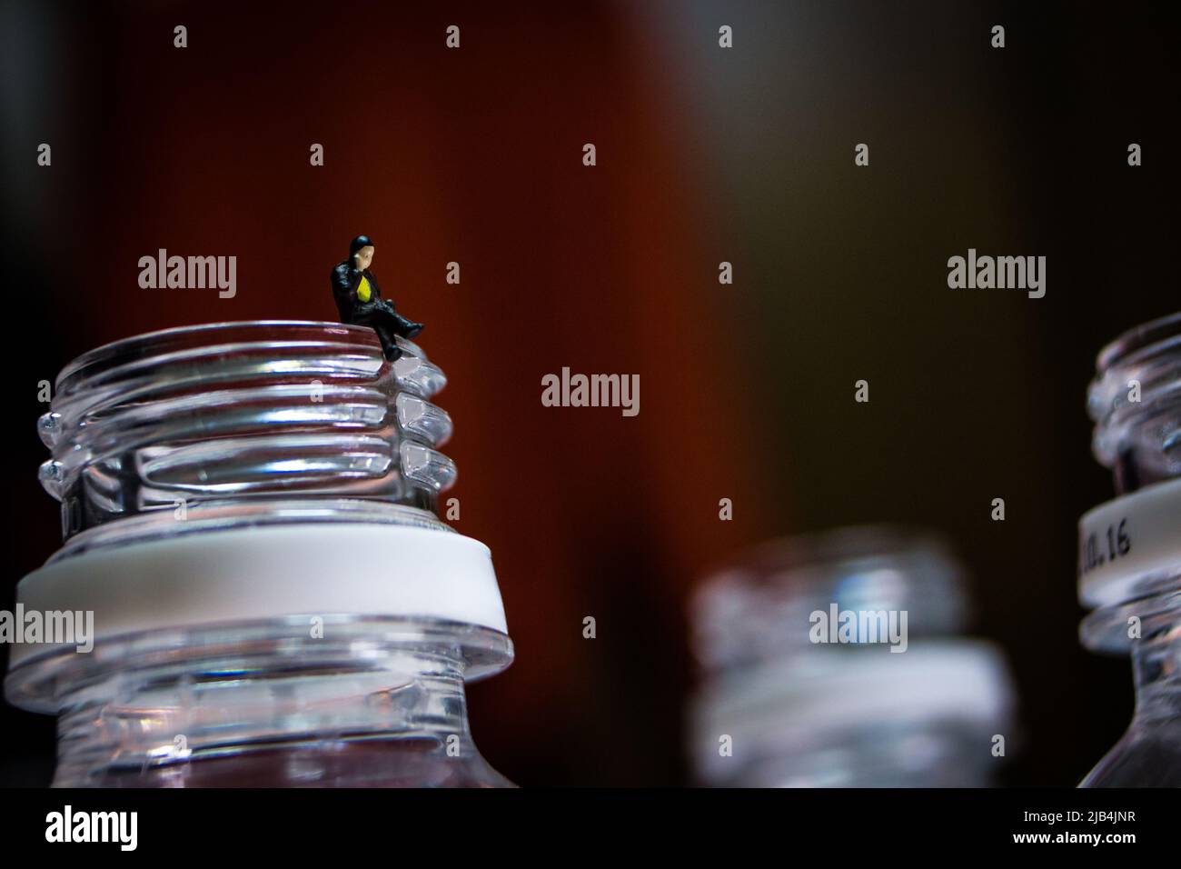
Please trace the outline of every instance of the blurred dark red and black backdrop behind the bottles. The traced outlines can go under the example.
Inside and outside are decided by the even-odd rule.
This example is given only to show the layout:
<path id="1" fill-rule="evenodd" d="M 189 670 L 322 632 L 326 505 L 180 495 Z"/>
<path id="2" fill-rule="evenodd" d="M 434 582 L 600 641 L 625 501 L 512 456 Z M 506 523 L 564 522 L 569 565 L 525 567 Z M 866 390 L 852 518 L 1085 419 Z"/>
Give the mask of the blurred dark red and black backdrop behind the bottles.
<path id="1" fill-rule="evenodd" d="M 1074 785 L 1118 738 L 1130 668 L 1078 644 L 1075 523 L 1113 494 L 1095 355 L 1177 307 L 1168 4 L 0 6 L 0 609 L 59 544 L 38 382 L 154 329 L 331 319 L 364 232 L 450 378 L 456 527 L 517 648 L 471 721 L 509 778 L 686 783 L 687 591 L 744 545 L 879 520 L 971 571 L 1020 693 L 1007 784 Z M 141 290 L 159 247 L 236 255 L 236 298 Z M 1045 298 L 948 290 L 970 247 L 1045 255 Z M 563 365 L 639 374 L 640 415 L 543 408 Z M 0 728 L 0 784 L 47 783 L 52 720 Z"/>

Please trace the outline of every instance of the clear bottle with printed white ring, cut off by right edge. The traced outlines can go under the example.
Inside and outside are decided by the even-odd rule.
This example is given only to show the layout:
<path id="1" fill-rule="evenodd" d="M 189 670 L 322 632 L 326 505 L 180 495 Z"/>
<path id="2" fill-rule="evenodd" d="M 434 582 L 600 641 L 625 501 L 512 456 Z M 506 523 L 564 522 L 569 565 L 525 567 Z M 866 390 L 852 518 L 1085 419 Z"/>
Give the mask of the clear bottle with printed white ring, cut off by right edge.
<path id="1" fill-rule="evenodd" d="M 1131 654 L 1136 707 L 1084 787 L 1181 786 L 1181 314 L 1098 356 L 1088 408 L 1117 498 L 1079 520 L 1079 636 Z"/>

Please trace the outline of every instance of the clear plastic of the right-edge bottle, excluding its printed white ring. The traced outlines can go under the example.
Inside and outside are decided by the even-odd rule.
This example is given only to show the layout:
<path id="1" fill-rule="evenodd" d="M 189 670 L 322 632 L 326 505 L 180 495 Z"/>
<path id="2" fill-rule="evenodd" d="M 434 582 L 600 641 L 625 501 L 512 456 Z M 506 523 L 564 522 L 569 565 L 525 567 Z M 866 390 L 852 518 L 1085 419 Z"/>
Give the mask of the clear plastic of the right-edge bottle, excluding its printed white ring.
<path id="1" fill-rule="evenodd" d="M 1181 314 L 1122 335 L 1098 356 L 1088 395 L 1094 452 L 1118 495 L 1181 476 Z M 1181 786 L 1181 538 L 1163 566 L 1127 577 L 1079 627 L 1084 646 L 1131 657 L 1136 702 L 1083 787 Z M 1079 553 L 1082 565 L 1090 558 Z"/>

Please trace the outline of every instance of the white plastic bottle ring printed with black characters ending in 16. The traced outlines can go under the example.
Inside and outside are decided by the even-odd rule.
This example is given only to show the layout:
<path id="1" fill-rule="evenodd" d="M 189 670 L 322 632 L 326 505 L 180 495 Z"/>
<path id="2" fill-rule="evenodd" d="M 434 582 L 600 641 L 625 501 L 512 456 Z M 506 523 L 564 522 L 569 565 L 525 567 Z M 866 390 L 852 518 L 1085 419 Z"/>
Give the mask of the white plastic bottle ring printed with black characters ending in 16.
<path id="1" fill-rule="evenodd" d="M 1181 565 L 1181 478 L 1088 511 L 1078 520 L 1078 599 L 1127 599 L 1137 581 Z"/>

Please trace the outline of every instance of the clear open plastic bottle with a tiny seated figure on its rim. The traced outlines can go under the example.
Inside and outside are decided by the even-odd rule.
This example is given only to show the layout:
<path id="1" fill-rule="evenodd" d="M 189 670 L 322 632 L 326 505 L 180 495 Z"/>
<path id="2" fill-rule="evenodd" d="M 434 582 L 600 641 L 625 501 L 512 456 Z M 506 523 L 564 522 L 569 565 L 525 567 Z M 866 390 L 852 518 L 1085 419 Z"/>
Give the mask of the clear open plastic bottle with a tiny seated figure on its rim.
<path id="1" fill-rule="evenodd" d="M 26 612 L 93 649 L 12 647 L 7 698 L 58 715 L 58 786 L 509 785 L 464 682 L 513 660 L 488 547 L 436 515 L 445 384 L 372 330 L 222 323 L 61 371 L 40 420 L 63 547 Z M 77 637 L 74 637 L 77 640 Z"/>

